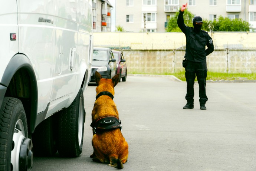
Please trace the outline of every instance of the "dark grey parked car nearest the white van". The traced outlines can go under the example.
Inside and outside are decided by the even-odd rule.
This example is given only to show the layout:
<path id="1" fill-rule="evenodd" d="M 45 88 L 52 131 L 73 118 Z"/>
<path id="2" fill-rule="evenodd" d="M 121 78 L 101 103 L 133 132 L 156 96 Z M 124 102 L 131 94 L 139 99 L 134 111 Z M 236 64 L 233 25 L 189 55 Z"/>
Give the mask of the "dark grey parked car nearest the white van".
<path id="1" fill-rule="evenodd" d="M 93 47 L 91 82 L 95 82 L 95 72 L 103 78 L 112 78 L 116 75 L 116 60 L 108 47 Z"/>

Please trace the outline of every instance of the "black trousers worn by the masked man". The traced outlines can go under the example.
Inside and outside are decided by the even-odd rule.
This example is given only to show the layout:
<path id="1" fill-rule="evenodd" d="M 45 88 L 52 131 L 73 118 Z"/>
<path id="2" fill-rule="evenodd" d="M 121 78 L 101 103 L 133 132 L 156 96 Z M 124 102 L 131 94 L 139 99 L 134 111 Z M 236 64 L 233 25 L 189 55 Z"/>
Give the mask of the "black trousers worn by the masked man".
<path id="1" fill-rule="evenodd" d="M 187 94 L 185 98 L 187 102 L 194 102 L 194 83 L 197 77 L 197 82 L 199 85 L 199 102 L 200 105 L 205 104 L 208 101 L 208 98 L 206 96 L 206 62 L 191 62 L 188 60 L 185 70 L 185 76 L 187 81 Z"/>

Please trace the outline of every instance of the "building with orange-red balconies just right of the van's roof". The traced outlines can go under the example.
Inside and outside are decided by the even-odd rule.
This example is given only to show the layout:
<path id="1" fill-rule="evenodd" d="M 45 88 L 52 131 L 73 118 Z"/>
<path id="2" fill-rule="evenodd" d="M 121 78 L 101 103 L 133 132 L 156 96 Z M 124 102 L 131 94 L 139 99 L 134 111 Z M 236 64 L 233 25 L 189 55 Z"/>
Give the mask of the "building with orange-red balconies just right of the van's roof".
<path id="1" fill-rule="evenodd" d="M 93 32 L 111 32 L 111 10 L 108 0 L 92 0 Z"/>

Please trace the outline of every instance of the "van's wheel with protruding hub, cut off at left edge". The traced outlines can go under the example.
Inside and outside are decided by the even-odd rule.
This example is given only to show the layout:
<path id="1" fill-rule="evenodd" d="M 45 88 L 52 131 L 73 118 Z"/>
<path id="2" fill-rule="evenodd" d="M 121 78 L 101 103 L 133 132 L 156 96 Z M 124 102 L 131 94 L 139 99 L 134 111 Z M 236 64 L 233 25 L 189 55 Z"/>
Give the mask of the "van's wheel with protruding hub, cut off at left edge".
<path id="1" fill-rule="evenodd" d="M 0 170 L 31 170 L 33 144 L 19 99 L 5 97 L 0 110 Z"/>

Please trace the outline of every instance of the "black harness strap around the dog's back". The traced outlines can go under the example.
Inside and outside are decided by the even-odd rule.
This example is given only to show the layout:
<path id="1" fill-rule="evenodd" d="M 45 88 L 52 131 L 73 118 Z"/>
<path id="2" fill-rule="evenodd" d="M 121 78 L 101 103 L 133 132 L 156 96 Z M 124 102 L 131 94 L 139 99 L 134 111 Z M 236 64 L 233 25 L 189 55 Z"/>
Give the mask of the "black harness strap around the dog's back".
<path id="1" fill-rule="evenodd" d="M 96 121 L 92 121 L 90 126 L 93 128 L 95 134 L 116 128 L 122 131 L 121 120 L 115 116 L 104 116 Z"/>

